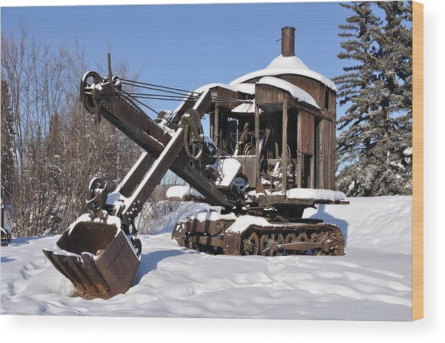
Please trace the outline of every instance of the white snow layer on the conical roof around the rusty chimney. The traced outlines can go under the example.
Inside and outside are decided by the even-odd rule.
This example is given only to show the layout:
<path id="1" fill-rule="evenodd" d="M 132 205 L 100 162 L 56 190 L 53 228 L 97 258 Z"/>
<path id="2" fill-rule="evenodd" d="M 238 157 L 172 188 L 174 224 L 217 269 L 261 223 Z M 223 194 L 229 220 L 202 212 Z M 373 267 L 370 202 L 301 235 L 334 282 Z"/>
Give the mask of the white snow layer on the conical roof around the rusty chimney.
<path id="1" fill-rule="evenodd" d="M 273 59 L 269 66 L 261 69 L 260 71 L 254 71 L 253 73 L 248 73 L 243 75 L 242 77 L 238 77 L 236 80 L 230 82 L 229 86 L 235 86 L 237 84 L 242 84 L 248 80 L 252 80 L 255 77 L 262 76 L 272 76 L 272 75 L 284 75 L 284 74 L 292 74 L 292 75 L 302 75 L 311 77 L 311 79 L 320 81 L 321 83 L 328 86 L 333 91 L 338 91 L 334 82 L 329 80 L 327 77 L 317 73 L 316 71 L 312 71 L 309 67 L 302 62 L 296 56 L 284 57 L 282 55 Z"/>

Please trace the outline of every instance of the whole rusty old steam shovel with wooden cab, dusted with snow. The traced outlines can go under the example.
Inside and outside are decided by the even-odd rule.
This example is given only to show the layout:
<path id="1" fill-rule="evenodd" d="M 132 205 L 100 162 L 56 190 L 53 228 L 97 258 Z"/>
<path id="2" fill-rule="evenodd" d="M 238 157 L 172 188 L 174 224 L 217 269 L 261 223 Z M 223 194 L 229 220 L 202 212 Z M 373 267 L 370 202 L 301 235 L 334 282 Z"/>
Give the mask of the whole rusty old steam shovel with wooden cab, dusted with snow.
<path id="1" fill-rule="evenodd" d="M 302 218 L 307 207 L 347 201 L 332 191 L 336 89 L 292 55 L 293 33 L 282 29 L 282 55 L 263 71 L 194 92 L 120 79 L 110 61 L 108 77 L 82 77 L 80 97 L 95 122 L 105 118 L 146 152 L 113 192 L 100 178 L 91 180 L 90 213 L 57 248 L 44 250 L 81 295 L 109 298 L 131 286 L 141 253 L 135 219 L 168 169 L 190 187 L 167 195 L 214 209 L 176 224 L 172 238 L 181 246 L 264 256 L 344 253 L 340 228 Z M 127 85 L 167 95 L 131 93 Z M 317 101 L 316 86 L 323 91 Z M 141 98 L 183 101 L 152 120 Z M 201 126 L 205 113 L 210 137 Z"/>

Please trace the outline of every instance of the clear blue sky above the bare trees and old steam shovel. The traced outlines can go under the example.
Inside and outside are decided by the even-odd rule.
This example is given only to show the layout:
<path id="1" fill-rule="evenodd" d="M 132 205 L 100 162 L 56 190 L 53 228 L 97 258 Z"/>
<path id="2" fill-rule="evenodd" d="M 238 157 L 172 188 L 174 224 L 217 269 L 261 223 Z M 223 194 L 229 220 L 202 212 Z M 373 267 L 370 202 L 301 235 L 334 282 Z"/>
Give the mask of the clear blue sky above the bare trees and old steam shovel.
<path id="1" fill-rule="evenodd" d="M 244 3 L 208 5 L 66 6 L 1 8 L 1 30 L 28 26 L 59 44 L 84 40 L 90 69 L 105 60 L 124 60 L 140 80 L 197 89 L 228 83 L 264 68 L 280 54 L 282 26 L 295 26 L 296 55 L 329 78 L 342 73 L 338 24 L 350 12 L 338 3 Z M 174 109 L 156 102 L 154 109 Z M 338 107 L 338 116 L 344 109 Z"/>

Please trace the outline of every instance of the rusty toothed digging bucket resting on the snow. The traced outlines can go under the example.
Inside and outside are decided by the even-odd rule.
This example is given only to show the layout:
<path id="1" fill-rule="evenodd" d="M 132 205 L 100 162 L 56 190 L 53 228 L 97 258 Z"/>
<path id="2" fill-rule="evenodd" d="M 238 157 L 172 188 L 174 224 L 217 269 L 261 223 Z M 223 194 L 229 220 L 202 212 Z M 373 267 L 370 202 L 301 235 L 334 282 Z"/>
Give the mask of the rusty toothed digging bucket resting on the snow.
<path id="1" fill-rule="evenodd" d="M 78 295 L 108 299 L 130 288 L 140 263 L 140 241 L 127 237 L 116 216 L 84 214 L 44 254 Z"/>

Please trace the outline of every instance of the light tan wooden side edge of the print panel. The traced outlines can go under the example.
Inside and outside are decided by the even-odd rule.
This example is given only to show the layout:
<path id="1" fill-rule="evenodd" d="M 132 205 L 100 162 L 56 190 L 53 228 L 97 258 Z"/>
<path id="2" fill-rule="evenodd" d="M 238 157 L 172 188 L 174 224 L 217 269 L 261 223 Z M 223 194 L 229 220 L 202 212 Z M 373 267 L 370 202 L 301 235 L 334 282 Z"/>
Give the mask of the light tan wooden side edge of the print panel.
<path id="1" fill-rule="evenodd" d="M 412 320 L 424 317 L 424 5 L 412 2 Z"/>

